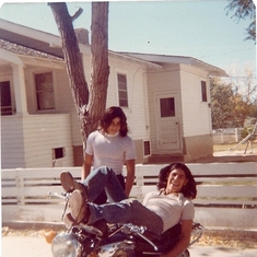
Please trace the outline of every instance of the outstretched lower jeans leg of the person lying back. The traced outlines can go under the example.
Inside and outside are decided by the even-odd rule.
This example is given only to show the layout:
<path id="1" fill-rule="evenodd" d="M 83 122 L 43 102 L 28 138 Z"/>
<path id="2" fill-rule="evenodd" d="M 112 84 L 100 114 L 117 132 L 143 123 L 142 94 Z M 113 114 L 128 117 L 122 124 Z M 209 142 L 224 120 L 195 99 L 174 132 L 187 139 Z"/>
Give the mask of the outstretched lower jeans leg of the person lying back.
<path id="1" fill-rule="evenodd" d="M 89 202 L 87 210 L 87 224 L 104 219 L 107 223 L 132 223 L 139 226 L 147 226 L 150 232 L 157 235 L 161 235 L 163 231 L 162 219 L 135 199 L 126 199 L 120 202 L 102 206 Z"/>

